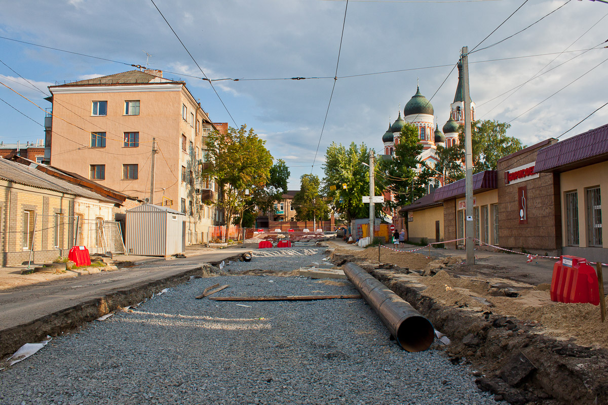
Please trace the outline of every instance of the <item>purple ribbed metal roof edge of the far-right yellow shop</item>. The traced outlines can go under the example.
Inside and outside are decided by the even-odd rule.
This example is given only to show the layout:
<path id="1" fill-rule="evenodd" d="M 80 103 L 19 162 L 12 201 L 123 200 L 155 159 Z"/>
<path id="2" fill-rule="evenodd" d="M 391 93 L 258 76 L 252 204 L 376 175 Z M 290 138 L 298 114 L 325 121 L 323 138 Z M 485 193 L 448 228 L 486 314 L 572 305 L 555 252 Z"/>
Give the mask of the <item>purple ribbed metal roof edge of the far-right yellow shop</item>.
<path id="1" fill-rule="evenodd" d="M 538 151 L 535 172 L 563 172 L 608 160 L 608 124 Z"/>

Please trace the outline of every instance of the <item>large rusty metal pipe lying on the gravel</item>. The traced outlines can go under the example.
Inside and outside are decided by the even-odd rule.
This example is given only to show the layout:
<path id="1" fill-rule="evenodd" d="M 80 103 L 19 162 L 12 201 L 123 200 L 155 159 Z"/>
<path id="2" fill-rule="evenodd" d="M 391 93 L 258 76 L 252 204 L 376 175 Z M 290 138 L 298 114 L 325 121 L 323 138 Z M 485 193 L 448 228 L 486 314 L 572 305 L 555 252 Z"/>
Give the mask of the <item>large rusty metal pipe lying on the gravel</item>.
<path id="1" fill-rule="evenodd" d="M 435 328 L 428 319 L 358 265 L 347 263 L 344 274 L 403 349 L 408 352 L 429 349 L 435 339 Z"/>

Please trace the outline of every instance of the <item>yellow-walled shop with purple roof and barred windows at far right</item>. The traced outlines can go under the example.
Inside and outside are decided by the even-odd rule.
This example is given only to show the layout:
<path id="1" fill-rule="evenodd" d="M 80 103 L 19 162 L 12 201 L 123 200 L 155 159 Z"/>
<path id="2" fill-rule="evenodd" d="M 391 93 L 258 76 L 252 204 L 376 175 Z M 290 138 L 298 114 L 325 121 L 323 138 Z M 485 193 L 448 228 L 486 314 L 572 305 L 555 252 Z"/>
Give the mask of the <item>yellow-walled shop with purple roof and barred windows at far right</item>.
<path id="1" fill-rule="evenodd" d="M 538 152 L 535 171 L 556 181 L 553 207 L 562 254 L 608 262 L 608 124 Z"/>

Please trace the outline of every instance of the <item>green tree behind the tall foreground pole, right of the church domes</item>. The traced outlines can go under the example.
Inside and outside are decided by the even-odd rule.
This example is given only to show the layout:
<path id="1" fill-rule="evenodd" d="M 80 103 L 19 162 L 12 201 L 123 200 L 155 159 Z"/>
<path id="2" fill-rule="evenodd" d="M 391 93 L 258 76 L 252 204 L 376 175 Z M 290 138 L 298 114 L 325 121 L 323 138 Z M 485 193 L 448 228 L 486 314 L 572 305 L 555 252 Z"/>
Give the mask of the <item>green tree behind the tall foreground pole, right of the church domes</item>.
<path id="1" fill-rule="evenodd" d="M 506 130 L 510 124 L 496 120 L 473 121 L 471 123 L 471 148 L 473 158 L 473 173 L 485 170 L 496 170 L 498 160 L 523 148 L 522 141 L 515 137 L 508 137 Z M 465 177 L 465 129 L 460 126 L 458 131 L 458 145 L 450 148 L 437 148 L 440 161 L 435 169 L 444 172 L 452 180 Z M 460 165 L 463 162 L 463 165 Z M 447 179 L 448 182 L 451 180 Z"/>

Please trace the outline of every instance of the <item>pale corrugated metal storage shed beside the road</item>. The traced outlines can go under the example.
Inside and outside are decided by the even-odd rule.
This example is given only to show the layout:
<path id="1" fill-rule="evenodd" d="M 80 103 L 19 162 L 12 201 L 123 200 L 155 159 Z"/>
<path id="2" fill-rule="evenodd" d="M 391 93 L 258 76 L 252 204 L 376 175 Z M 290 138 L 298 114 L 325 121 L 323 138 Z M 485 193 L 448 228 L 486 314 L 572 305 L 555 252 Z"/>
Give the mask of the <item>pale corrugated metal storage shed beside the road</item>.
<path id="1" fill-rule="evenodd" d="M 171 256 L 185 250 L 184 213 L 142 204 L 126 210 L 127 254 Z"/>

